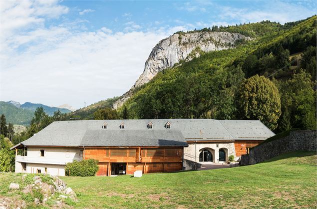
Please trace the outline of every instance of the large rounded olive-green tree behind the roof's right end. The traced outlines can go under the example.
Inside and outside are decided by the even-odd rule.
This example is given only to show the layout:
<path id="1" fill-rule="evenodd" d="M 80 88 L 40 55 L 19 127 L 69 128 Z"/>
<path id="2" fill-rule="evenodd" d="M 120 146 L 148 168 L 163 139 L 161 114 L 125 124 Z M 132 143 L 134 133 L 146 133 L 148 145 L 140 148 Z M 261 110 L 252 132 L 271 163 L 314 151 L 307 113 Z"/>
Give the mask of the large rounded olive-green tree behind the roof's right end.
<path id="1" fill-rule="evenodd" d="M 279 90 L 270 79 L 254 75 L 240 86 L 237 108 L 241 118 L 259 119 L 270 129 L 275 129 L 281 115 Z"/>

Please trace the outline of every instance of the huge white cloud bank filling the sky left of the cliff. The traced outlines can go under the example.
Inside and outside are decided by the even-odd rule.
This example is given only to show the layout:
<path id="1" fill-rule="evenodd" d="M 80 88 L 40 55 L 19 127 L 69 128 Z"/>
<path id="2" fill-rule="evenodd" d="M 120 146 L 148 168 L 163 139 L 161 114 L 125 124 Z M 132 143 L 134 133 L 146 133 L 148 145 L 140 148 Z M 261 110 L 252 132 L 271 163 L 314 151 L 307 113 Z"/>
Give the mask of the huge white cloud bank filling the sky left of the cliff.
<path id="1" fill-rule="evenodd" d="M 0 100 L 79 108 L 84 102 L 121 95 L 142 73 L 152 47 L 168 35 L 164 30 L 137 32 L 141 26 L 135 22 L 126 23 L 128 31 L 115 33 L 107 27 L 82 32 L 68 23 L 45 26 L 54 15 L 33 15 L 34 2 L 28 3 L 3 9 L 25 21 L 6 27 L 11 35 L 1 37 Z M 62 8 L 55 18 L 68 10 Z"/>

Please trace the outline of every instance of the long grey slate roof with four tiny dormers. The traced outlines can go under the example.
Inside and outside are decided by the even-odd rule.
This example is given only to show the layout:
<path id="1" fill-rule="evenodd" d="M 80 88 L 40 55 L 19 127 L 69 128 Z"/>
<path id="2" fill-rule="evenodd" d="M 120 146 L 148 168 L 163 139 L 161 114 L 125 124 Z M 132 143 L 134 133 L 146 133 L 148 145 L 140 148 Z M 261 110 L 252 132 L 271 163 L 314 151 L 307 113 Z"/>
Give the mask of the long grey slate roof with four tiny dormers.
<path id="1" fill-rule="evenodd" d="M 171 123 L 167 129 L 165 124 Z M 107 129 L 102 129 L 104 122 Z M 121 123 L 125 129 L 120 129 Z M 148 128 L 152 122 L 153 129 Z M 187 140 L 261 140 L 274 133 L 259 120 L 139 119 L 56 121 L 26 146 L 187 146 Z"/>

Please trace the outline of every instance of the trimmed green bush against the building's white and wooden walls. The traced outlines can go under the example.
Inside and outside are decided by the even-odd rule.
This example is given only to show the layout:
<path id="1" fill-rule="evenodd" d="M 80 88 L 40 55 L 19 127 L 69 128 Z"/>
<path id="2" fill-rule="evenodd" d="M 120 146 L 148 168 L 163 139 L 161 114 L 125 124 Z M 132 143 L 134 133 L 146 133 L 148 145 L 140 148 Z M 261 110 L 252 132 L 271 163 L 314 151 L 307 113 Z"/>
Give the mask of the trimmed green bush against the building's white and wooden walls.
<path id="1" fill-rule="evenodd" d="M 74 160 L 65 165 L 66 176 L 94 176 L 98 171 L 98 160 L 83 159 L 80 161 Z"/>

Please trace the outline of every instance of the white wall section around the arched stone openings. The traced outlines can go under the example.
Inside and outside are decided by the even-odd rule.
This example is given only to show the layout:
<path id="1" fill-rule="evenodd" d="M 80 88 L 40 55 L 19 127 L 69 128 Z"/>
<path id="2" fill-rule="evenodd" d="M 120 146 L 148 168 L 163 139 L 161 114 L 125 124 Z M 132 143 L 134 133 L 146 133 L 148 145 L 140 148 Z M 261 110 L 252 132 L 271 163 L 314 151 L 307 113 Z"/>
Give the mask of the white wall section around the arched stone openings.
<path id="1" fill-rule="evenodd" d="M 218 144 L 218 147 L 217 147 Z M 196 148 L 195 148 L 196 147 Z M 194 162 L 199 162 L 199 154 L 202 149 L 207 148 L 213 155 L 213 162 L 217 163 L 219 160 L 219 149 L 225 148 L 227 150 L 227 157 L 230 155 L 236 156 L 235 145 L 233 142 L 219 143 L 219 142 L 206 142 L 206 143 L 188 143 L 188 147 L 184 147 L 184 159 Z M 196 159 L 195 159 L 196 153 Z M 202 162 L 200 162 L 202 163 Z M 204 162 L 205 163 L 205 162 Z"/>

